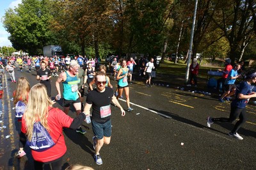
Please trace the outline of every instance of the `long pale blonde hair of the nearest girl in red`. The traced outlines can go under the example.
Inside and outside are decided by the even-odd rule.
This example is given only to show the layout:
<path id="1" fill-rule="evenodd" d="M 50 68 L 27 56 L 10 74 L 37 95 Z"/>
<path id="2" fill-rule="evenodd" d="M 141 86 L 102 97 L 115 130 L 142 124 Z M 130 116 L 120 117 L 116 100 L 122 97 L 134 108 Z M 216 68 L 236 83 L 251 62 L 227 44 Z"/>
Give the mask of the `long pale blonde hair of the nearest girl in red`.
<path id="1" fill-rule="evenodd" d="M 47 125 L 48 107 L 52 106 L 52 101 L 47 95 L 47 90 L 44 84 L 36 84 L 29 91 L 29 99 L 27 109 L 24 112 L 26 121 L 26 130 L 28 140 L 31 141 L 33 135 L 33 125 L 36 121 L 50 131 Z"/>

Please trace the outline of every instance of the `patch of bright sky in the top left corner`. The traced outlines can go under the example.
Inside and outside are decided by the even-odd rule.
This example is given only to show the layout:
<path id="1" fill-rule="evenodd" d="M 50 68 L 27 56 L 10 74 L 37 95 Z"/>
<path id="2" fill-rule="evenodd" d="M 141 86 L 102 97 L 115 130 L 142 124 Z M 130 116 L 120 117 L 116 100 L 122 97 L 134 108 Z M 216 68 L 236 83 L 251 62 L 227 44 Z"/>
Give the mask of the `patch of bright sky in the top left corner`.
<path id="1" fill-rule="evenodd" d="M 18 4 L 21 3 L 22 0 L 16 0 L 16 1 L 12 1 L 12 0 L 3 0 L 1 1 L 1 5 L 0 5 L 0 47 L 3 46 L 10 46 L 12 47 L 12 43 L 8 40 L 8 36 L 10 36 L 10 34 L 5 31 L 4 27 L 3 27 L 3 16 L 5 13 L 5 10 L 7 10 L 8 8 L 15 8 L 15 6 L 17 6 Z"/>

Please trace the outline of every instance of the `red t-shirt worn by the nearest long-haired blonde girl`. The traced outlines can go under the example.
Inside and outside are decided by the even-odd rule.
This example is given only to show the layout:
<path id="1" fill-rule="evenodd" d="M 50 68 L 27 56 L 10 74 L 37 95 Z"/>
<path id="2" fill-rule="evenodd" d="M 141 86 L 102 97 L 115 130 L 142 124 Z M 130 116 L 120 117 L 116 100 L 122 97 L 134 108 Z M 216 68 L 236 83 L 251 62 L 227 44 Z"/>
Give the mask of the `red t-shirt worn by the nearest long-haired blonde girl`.
<path id="1" fill-rule="evenodd" d="M 51 109 L 51 107 L 49 107 Z M 24 114 L 26 116 L 26 113 Z M 24 116 L 22 116 L 22 127 L 21 131 L 26 134 L 26 122 L 24 119 Z M 70 118 L 65 112 L 61 111 L 58 108 L 53 108 L 49 111 L 49 115 L 47 117 L 47 123 L 48 126 L 51 130 L 49 134 L 52 137 L 52 140 L 56 143 L 52 148 L 49 148 L 48 150 L 45 151 L 35 151 L 31 150 L 32 156 L 34 160 L 38 162 L 49 162 L 52 160 L 56 160 L 60 157 L 62 157 L 66 151 L 67 151 L 67 146 L 65 144 L 64 140 L 64 135 L 62 132 L 63 127 L 69 128 L 71 123 L 73 121 L 73 118 Z M 61 135 L 61 136 L 60 136 Z M 60 139 L 58 140 L 58 138 Z"/>

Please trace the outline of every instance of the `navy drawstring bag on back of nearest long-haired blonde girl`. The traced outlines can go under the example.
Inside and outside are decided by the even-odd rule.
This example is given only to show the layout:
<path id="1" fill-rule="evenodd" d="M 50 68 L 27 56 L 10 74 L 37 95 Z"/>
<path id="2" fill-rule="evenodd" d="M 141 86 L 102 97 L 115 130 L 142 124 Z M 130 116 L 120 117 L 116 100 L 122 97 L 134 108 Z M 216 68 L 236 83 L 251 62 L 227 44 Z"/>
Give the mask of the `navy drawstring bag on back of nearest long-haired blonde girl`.
<path id="1" fill-rule="evenodd" d="M 61 136 L 61 134 L 60 134 Z M 60 137 L 56 141 L 58 143 Z M 52 140 L 51 135 L 47 129 L 37 121 L 33 125 L 33 135 L 31 141 L 27 141 L 26 144 L 35 151 L 45 151 L 52 148 L 56 143 Z"/>

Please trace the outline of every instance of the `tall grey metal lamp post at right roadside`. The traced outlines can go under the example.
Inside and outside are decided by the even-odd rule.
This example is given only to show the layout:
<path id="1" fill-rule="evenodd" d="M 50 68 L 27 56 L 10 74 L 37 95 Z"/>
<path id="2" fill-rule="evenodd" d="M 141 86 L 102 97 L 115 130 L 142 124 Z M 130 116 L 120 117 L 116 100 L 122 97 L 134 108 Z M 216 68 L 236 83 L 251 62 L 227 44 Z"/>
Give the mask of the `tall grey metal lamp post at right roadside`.
<path id="1" fill-rule="evenodd" d="M 195 2 L 193 24 L 192 24 L 192 29 L 191 29 L 191 36 L 190 36 L 190 43 L 189 43 L 189 52 L 188 52 L 188 63 L 187 63 L 186 76 L 185 76 L 186 83 L 188 83 L 188 77 L 189 77 L 189 65 L 190 65 L 190 61 L 191 61 L 191 52 L 192 52 L 193 38 L 194 38 L 194 31 L 195 31 L 197 3 L 198 3 L 198 0 L 196 0 L 196 2 Z"/>

